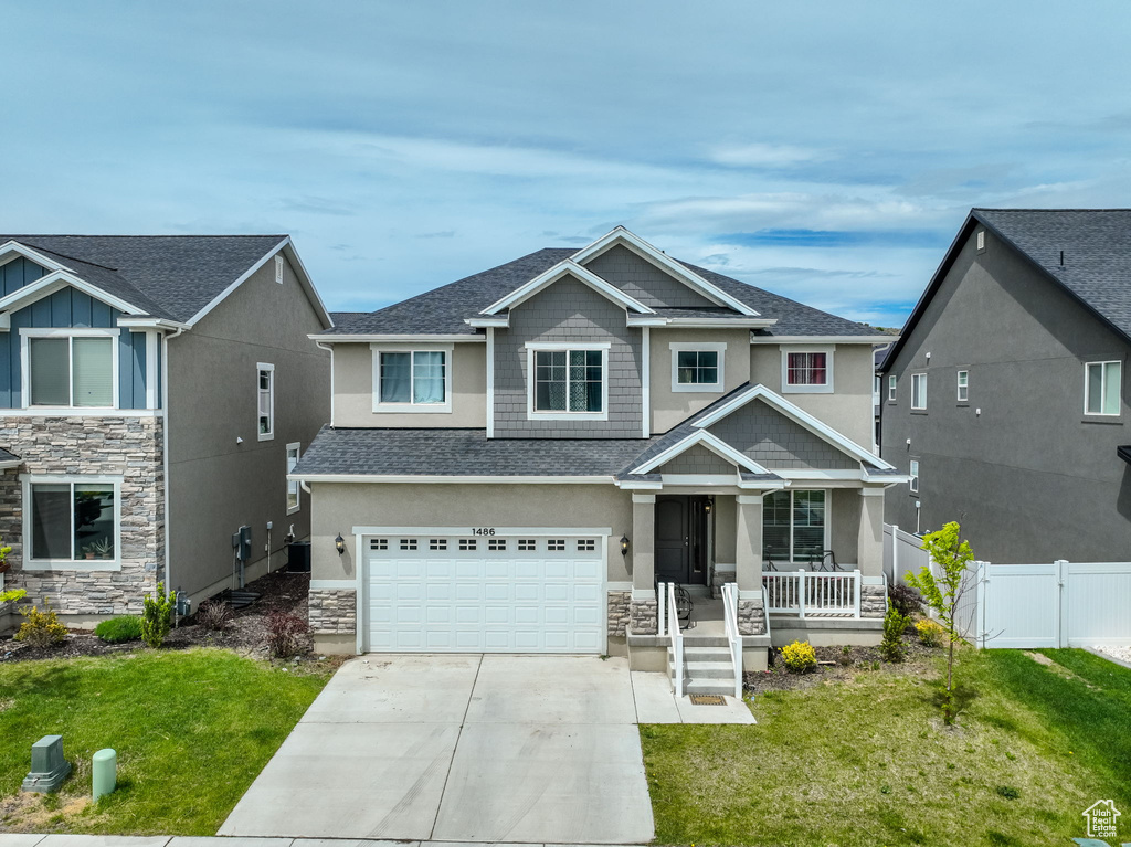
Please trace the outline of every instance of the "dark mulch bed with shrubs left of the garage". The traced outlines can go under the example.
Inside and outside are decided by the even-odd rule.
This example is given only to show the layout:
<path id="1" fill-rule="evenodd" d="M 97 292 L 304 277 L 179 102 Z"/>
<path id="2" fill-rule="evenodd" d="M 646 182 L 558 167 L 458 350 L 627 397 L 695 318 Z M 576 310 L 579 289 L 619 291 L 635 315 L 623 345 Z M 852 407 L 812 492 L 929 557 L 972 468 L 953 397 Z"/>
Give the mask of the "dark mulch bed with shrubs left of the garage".
<path id="1" fill-rule="evenodd" d="M 201 626 L 196 615 L 182 617 L 179 625 L 169 633 L 163 650 L 183 650 L 189 647 L 223 647 L 253 658 L 269 658 L 267 649 L 267 617 L 273 612 L 290 612 L 307 620 L 307 599 L 310 587 L 309 573 L 285 573 L 276 571 L 248 585 L 248 590 L 262 596 L 245 608 L 232 613 L 232 620 L 223 631 Z M 111 645 L 89 631 L 71 630 L 59 645 L 37 648 L 12 639 L 14 633 L 0 637 L 0 663 L 28 662 L 34 659 L 61 659 L 77 656 L 106 656 L 114 652 L 135 652 L 149 649 L 140 641 Z M 311 655 L 313 638 L 302 639 L 297 658 L 318 658 Z"/>

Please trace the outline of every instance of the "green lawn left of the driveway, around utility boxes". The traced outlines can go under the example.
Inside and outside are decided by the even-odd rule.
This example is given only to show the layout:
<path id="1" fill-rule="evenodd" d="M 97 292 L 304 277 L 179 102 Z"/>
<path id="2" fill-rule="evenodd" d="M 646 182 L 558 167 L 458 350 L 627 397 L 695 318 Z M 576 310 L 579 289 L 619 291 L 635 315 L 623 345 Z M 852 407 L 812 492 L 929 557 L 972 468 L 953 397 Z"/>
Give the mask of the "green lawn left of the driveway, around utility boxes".
<path id="1" fill-rule="evenodd" d="M 0 830 L 215 835 L 329 673 L 214 649 L 0 665 Z M 19 794 L 51 734 L 75 771 L 58 796 Z M 90 804 L 102 747 L 119 787 Z"/>

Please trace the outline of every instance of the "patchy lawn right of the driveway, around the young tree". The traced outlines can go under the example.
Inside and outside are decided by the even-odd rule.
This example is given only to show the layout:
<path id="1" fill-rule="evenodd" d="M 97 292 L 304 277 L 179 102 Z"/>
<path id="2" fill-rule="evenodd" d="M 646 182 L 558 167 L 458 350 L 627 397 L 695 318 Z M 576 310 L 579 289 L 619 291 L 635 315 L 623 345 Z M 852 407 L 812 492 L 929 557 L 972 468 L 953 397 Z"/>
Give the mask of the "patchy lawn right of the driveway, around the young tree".
<path id="1" fill-rule="evenodd" d="M 641 726 L 657 841 L 1071 844 L 1095 801 L 1131 807 L 1131 671 L 1045 652 L 962 650 L 953 729 L 941 665 L 763 694 L 758 726 Z"/>

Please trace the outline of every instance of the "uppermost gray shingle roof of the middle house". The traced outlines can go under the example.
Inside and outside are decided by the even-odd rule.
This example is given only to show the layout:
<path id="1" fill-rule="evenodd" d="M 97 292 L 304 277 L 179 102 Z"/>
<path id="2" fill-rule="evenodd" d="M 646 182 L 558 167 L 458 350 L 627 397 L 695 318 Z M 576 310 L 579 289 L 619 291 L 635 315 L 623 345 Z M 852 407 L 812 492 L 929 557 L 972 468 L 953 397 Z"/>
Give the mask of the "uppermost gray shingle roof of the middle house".
<path id="1" fill-rule="evenodd" d="M 476 335 L 476 330 L 464 322 L 466 318 L 477 316 L 492 303 L 576 252 L 575 248 L 545 248 L 506 265 L 379 309 L 368 316 L 351 317 L 342 326 L 335 326 L 334 329 L 328 330 L 327 335 L 380 335 L 385 332 L 396 335 Z M 775 327 L 760 331 L 759 335 L 768 337 L 875 335 L 872 327 L 863 323 L 838 318 L 835 314 L 822 312 L 778 294 L 771 294 L 689 262 L 681 263 L 731 296 L 753 308 L 761 313 L 761 317 L 778 320 Z M 734 317 L 736 314 L 729 309 L 668 309 L 659 311 L 672 317 Z M 355 313 L 349 314 L 354 316 Z M 335 320 L 335 325 L 337 323 L 338 321 Z"/>

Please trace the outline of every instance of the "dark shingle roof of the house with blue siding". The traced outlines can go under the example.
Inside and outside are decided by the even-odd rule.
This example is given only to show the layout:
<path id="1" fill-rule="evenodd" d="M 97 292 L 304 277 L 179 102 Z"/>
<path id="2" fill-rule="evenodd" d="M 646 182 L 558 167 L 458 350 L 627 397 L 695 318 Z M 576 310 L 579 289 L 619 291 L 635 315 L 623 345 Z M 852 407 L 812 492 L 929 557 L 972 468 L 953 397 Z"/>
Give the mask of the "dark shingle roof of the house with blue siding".
<path id="1" fill-rule="evenodd" d="M 286 235 L 0 235 L 155 318 L 188 321 Z"/>

